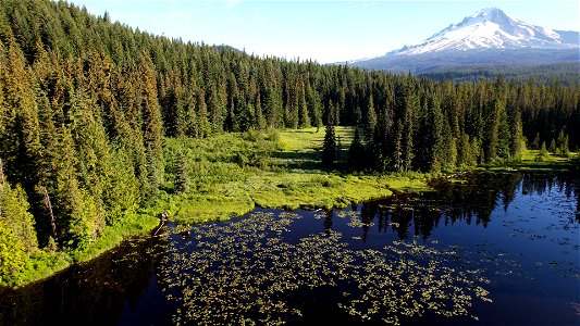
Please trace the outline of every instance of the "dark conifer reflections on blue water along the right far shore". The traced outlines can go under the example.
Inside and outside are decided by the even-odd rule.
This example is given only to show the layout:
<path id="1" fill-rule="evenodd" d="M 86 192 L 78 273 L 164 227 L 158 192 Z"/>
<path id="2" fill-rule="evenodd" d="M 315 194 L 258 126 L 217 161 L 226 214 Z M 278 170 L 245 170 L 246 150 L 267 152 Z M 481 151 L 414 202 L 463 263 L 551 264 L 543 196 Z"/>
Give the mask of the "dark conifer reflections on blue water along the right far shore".
<path id="1" fill-rule="evenodd" d="M 495 208 L 501 204 L 507 211 L 518 189 L 521 189 L 521 195 L 542 196 L 556 187 L 567 198 L 576 197 L 576 220 L 580 222 L 580 186 L 577 177 L 571 175 L 481 173 L 464 175 L 462 178 L 469 181 L 449 183 L 437 179 L 431 184 L 436 192 L 421 196 L 399 193 L 361 204 L 357 209 L 360 210 L 360 220 L 365 224 L 362 240 L 367 241 L 369 227 L 374 221 L 379 233 L 393 230 L 402 240 L 412 237 L 427 240 L 433 228 L 441 224 L 465 222 L 467 225 L 474 223 L 485 228 L 491 223 Z M 328 228 L 325 224 L 324 229 Z"/>

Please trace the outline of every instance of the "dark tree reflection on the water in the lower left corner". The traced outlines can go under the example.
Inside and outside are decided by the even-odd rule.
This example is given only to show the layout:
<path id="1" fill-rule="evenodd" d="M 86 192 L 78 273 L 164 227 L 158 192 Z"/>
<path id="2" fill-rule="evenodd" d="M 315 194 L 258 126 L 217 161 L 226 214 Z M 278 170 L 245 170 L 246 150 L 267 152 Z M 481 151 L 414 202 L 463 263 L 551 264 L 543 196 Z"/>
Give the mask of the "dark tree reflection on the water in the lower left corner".
<path id="1" fill-rule="evenodd" d="M 45 281 L 0 289 L 0 325 L 114 325 L 147 292 L 165 243 L 134 240 Z"/>

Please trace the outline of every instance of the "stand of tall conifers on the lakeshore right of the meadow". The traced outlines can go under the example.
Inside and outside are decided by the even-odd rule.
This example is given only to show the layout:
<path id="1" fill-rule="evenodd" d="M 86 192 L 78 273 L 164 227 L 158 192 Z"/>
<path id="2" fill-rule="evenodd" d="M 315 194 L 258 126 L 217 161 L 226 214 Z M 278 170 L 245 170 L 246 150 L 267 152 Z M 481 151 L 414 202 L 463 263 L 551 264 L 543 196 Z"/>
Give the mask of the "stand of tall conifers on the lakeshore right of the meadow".
<path id="1" fill-rule="evenodd" d="M 454 83 L 383 75 L 355 124 L 349 167 L 437 172 L 520 160 L 527 148 L 546 147 L 568 155 L 580 140 L 578 96 L 578 87 L 503 78 Z M 323 161 L 329 165 L 328 155 Z"/>

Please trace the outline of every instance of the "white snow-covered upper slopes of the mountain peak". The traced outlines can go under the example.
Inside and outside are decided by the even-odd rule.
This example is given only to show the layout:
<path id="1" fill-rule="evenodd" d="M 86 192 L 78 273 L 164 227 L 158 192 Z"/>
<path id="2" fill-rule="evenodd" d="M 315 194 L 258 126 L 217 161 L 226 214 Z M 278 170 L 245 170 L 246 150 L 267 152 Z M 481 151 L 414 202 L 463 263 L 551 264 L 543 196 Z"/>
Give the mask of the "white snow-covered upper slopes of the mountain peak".
<path id="1" fill-rule="evenodd" d="M 579 34 L 531 25 L 506 15 L 497 8 L 489 8 L 449 25 L 421 45 L 405 46 L 387 55 L 522 48 L 575 49 L 579 48 Z"/>

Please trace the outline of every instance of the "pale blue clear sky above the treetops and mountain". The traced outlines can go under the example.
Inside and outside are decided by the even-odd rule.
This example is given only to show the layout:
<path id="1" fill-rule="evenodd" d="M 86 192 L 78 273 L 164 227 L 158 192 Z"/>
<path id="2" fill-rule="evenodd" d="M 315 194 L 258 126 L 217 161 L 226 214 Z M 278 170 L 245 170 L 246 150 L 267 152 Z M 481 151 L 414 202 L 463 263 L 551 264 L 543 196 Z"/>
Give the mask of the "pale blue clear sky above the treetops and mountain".
<path id="1" fill-rule="evenodd" d="M 157 35 L 229 45 L 258 55 L 344 62 L 384 54 L 480 9 L 564 30 L 580 30 L 578 1 L 72 0 L 96 15 Z"/>

